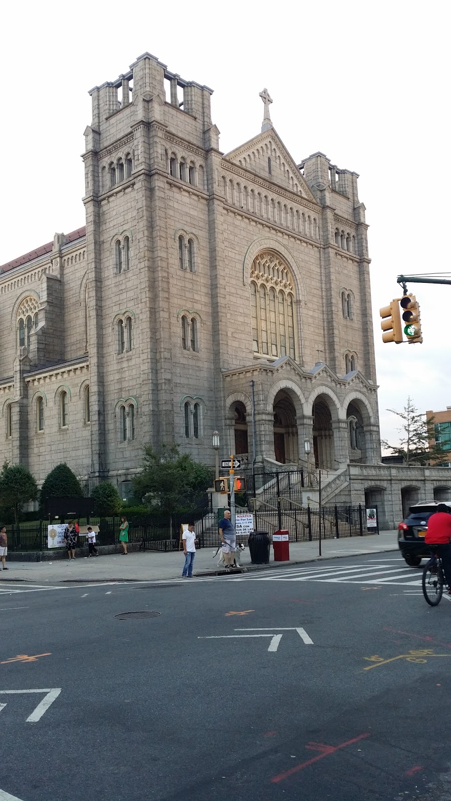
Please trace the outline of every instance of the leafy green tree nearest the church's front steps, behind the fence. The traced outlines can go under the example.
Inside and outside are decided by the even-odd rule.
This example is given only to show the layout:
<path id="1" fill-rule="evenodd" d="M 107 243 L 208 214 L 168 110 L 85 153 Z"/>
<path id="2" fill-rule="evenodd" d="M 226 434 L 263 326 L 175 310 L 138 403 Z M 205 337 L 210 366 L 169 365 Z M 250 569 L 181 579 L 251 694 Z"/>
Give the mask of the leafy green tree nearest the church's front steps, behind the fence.
<path id="1" fill-rule="evenodd" d="M 142 473 L 132 483 L 136 497 L 145 498 L 152 511 L 169 516 L 172 530 L 173 514 L 193 509 L 196 494 L 205 492 L 211 480 L 207 465 L 179 453 L 178 445 L 163 445 L 160 453 L 147 445 Z"/>

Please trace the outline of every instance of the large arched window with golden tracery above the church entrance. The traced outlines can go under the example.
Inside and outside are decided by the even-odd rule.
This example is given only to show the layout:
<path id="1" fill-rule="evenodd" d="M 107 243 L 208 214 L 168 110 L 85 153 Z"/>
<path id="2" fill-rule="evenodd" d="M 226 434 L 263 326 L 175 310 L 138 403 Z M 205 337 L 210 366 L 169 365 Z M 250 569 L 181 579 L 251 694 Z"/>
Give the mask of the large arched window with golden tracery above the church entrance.
<path id="1" fill-rule="evenodd" d="M 262 251 L 250 268 L 252 346 L 262 356 L 296 358 L 295 285 L 280 256 Z"/>

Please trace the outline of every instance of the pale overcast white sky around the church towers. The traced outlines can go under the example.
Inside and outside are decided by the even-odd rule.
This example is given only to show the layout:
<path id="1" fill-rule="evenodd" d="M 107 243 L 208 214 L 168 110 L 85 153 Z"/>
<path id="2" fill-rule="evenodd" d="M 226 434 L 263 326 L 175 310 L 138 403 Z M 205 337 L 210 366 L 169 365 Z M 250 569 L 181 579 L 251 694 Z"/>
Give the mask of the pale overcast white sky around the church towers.
<path id="1" fill-rule="evenodd" d="M 396 419 L 385 409 L 401 409 L 408 393 L 421 411 L 451 405 L 451 286 L 408 286 L 421 302 L 422 345 L 382 344 L 379 317 L 398 296 L 399 273 L 449 269 L 448 9 L 437 0 L 8 3 L 0 264 L 84 224 L 87 91 L 141 53 L 214 90 L 225 153 L 259 133 L 267 87 L 297 163 L 323 151 L 360 174 L 380 428 L 392 440 Z"/>

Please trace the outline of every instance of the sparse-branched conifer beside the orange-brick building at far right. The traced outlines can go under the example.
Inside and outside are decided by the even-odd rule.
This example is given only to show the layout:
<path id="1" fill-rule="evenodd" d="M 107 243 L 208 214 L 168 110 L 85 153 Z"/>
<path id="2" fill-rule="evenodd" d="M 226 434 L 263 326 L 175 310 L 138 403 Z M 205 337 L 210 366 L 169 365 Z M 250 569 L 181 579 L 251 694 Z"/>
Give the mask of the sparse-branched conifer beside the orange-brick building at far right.
<path id="1" fill-rule="evenodd" d="M 387 411 L 396 414 L 402 423 L 397 429 L 400 433 L 399 444 L 390 445 L 387 440 L 381 440 L 383 449 L 392 451 L 396 456 L 403 456 L 406 466 L 429 463 L 437 465 L 444 460 L 445 450 L 434 437 L 434 418 L 426 418 L 424 413 L 418 412 L 410 396 L 402 412 L 396 409 Z"/>

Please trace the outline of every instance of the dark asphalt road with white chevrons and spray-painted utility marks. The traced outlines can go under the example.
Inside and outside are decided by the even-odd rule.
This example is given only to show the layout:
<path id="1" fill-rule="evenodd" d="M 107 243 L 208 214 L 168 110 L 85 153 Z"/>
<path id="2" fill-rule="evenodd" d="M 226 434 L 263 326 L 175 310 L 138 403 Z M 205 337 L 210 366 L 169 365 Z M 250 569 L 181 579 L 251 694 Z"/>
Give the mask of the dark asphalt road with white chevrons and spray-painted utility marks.
<path id="1" fill-rule="evenodd" d="M 420 580 L 396 553 L 2 580 L 0 801 L 449 801 L 451 604 Z"/>

